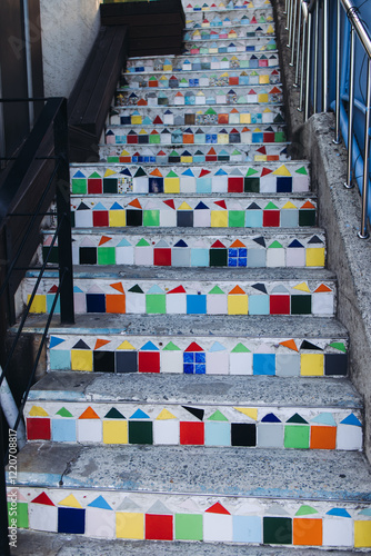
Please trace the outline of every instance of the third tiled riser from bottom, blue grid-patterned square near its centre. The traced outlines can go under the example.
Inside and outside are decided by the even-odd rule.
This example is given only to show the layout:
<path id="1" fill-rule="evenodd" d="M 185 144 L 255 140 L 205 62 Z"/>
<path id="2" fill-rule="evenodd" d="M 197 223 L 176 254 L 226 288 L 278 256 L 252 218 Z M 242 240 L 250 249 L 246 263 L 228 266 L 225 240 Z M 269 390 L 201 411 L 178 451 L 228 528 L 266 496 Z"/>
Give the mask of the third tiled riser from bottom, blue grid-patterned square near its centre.
<path id="1" fill-rule="evenodd" d="M 220 288 L 213 296 L 225 309 Z M 176 298 L 181 301 L 181 294 Z M 49 370 L 279 377 L 343 377 L 348 373 L 344 339 L 59 335 L 51 336 L 48 357 Z"/>

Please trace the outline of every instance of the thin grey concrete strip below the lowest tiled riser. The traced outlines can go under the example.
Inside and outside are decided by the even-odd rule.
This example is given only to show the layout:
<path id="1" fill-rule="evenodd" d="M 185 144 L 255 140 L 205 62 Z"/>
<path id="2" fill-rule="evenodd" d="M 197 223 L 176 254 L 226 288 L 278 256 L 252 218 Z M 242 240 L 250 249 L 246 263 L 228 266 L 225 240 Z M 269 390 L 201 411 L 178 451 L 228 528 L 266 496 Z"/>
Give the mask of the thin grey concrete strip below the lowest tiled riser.
<path id="1" fill-rule="evenodd" d="M 17 548 L 11 556 L 321 556 L 314 548 L 241 546 L 220 543 L 167 543 L 153 540 L 100 540 L 78 535 L 56 535 L 31 530 L 18 532 Z M 331 556 L 347 556 L 352 550 L 331 550 Z"/>

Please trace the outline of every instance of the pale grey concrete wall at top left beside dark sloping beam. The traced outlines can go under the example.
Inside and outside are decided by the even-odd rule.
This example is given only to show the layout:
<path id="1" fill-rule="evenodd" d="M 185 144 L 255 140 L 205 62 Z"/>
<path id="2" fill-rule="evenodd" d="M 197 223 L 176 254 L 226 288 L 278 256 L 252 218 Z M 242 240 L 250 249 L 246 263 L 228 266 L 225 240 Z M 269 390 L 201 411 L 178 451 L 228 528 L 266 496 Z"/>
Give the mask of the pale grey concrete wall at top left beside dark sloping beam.
<path id="1" fill-rule="evenodd" d="M 100 0 L 40 0 L 44 92 L 68 97 L 99 30 Z"/>

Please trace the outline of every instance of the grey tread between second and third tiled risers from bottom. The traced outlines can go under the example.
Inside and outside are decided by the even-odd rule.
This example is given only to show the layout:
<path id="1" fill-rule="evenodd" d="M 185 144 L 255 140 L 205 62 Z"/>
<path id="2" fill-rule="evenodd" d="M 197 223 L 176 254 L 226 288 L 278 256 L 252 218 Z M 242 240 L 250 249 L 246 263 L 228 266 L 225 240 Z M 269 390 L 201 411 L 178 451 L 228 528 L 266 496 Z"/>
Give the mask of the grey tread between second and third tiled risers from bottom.
<path id="1" fill-rule="evenodd" d="M 248 407 L 362 408 L 361 396 L 344 378 L 238 375 L 151 375 L 48 373 L 32 387 L 29 401 L 218 405 Z"/>

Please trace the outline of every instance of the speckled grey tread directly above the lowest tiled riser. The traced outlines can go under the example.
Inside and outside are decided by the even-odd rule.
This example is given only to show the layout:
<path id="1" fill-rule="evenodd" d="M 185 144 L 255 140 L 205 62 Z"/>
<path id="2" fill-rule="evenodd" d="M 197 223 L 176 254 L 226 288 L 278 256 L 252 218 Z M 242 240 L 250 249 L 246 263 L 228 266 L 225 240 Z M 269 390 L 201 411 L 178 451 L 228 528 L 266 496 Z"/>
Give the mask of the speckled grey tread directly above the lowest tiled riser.
<path id="1" fill-rule="evenodd" d="M 352 451 L 34 443 L 19 453 L 18 469 L 18 485 L 46 488 L 371 500 L 370 466 Z"/>

